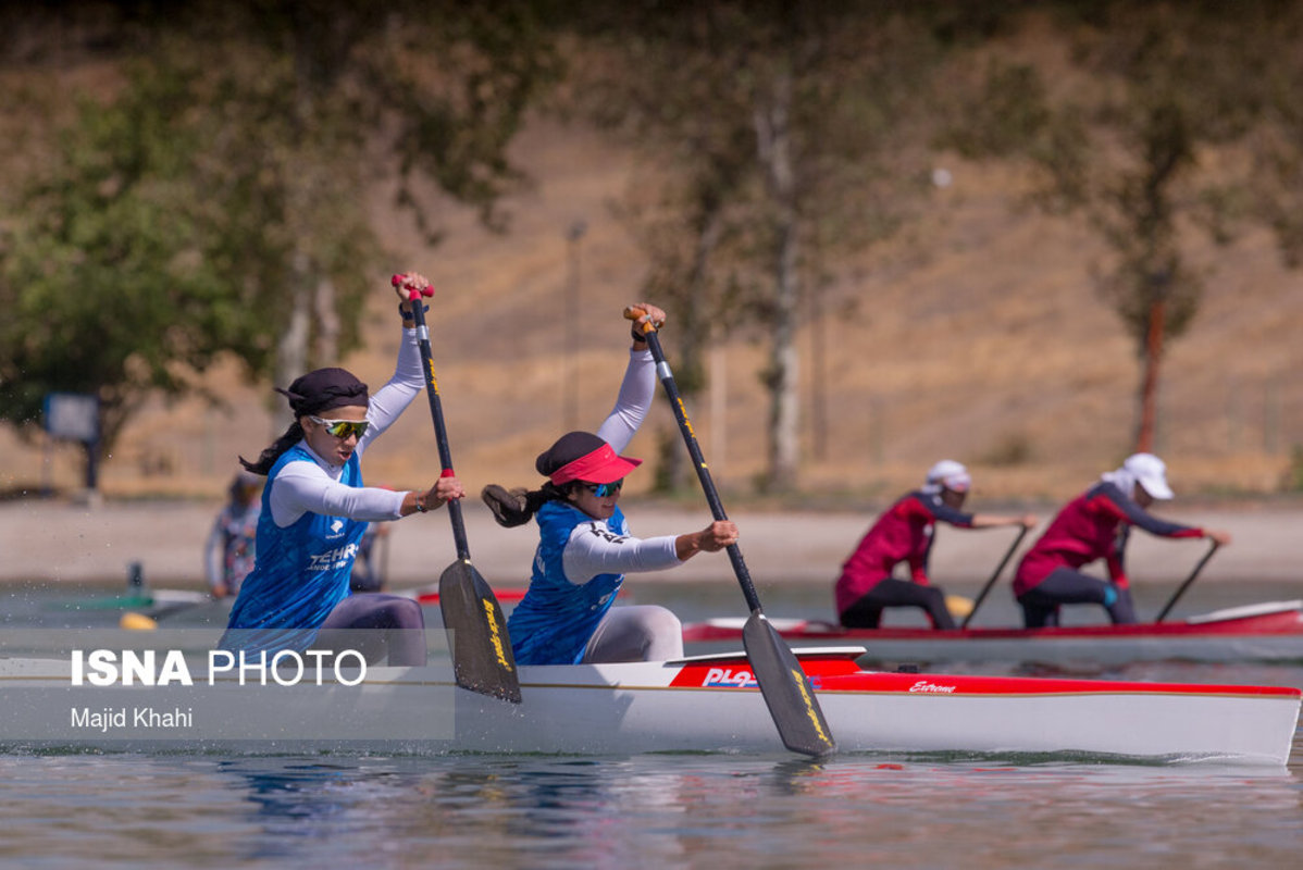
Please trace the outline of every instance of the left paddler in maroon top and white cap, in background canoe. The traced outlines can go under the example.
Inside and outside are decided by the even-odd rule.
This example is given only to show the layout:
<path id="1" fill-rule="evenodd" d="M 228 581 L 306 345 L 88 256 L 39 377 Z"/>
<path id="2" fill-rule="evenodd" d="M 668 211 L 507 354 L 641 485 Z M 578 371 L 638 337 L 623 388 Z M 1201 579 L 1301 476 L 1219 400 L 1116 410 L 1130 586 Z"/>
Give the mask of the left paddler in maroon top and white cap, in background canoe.
<path id="1" fill-rule="evenodd" d="M 971 487 L 968 469 L 954 460 L 942 460 L 928 470 L 920 490 L 906 494 L 878 517 L 842 564 L 837 580 L 837 612 L 843 626 L 878 628 L 885 608 L 917 607 L 933 628 L 955 628 L 943 590 L 928 577 L 936 524 L 956 529 L 1036 525 L 1032 514 L 963 513 L 960 508 Z M 900 563 L 909 565 L 909 580 L 891 576 Z"/>

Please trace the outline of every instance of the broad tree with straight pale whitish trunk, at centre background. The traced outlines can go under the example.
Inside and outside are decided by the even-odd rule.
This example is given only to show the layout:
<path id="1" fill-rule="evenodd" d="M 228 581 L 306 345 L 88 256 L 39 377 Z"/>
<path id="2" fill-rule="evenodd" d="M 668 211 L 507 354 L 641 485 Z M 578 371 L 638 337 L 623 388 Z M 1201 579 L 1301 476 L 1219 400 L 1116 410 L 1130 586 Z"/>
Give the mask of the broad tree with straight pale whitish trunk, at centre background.
<path id="1" fill-rule="evenodd" d="M 676 288 L 689 378 L 702 324 L 767 332 L 770 488 L 791 488 L 799 470 L 801 301 L 825 257 L 898 225 L 903 191 L 924 177 L 925 155 L 904 143 L 925 141 L 932 12 L 766 0 L 589 21 L 610 59 L 593 92 L 645 147 L 631 212 L 648 220 L 654 287 Z"/>

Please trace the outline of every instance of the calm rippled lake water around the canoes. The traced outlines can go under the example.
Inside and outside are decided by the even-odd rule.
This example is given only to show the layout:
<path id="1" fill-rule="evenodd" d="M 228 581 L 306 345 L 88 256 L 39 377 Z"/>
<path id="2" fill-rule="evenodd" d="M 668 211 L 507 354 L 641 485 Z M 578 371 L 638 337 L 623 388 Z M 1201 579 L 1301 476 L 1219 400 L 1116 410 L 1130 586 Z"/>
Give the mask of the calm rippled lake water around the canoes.
<path id="1" fill-rule="evenodd" d="M 635 589 L 687 619 L 744 610 L 736 589 Z M 1138 595 L 1141 612 L 1166 593 Z M 1196 593 L 1182 612 L 1300 590 Z M 827 615 L 827 590 L 761 594 L 775 616 Z M 10 612 L 30 604 L 48 617 L 46 595 L 10 594 Z M 1003 598 L 981 624 L 1012 623 Z M 1098 675 L 1303 686 L 1303 663 Z M 0 754 L 0 863 L 18 867 L 1293 867 L 1303 862 L 1303 732 L 1280 770 L 780 753 Z"/>

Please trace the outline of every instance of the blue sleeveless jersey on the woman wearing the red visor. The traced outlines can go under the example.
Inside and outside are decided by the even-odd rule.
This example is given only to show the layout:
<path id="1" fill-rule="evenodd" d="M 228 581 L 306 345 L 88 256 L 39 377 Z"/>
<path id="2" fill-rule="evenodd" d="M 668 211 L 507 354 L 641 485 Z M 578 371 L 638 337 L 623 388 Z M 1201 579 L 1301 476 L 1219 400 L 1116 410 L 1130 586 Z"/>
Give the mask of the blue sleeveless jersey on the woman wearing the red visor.
<path id="1" fill-rule="evenodd" d="M 536 518 L 534 573 L 529 591 L 507 620 L 511 650 L 516 664 L 579 664 L 597 624 L 615 603 L 624 574 L 598 574 L 586 583 L 572 583 L 562 567 L 562 552 L 575 526 L 593 522 L 593 517 L 563 501 L 549 501 Z M 619 508 L 606 525 L 618 535 L 629 534 Z"/>

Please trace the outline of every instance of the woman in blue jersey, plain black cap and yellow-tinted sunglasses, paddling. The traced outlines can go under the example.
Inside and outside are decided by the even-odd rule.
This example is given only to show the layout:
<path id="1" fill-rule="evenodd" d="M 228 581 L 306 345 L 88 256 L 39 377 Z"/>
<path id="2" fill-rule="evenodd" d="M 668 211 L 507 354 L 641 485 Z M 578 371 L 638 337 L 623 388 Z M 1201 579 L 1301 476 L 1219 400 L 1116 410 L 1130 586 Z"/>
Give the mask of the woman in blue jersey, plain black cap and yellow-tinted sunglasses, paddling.
<path id="1" fill-rule="evenodd" d="M 220 646 L 249 654 L 280 650 L 357 650 L 367 662 L 425 664 L 425 620 L 412 599 L 351 594 L 349 577 L 367 522 L 397 520 L 465 495 L 455 477 L 426 491 L 362 486 L 362 453 L 425 388 L 410 289 L 417 274 L 395 283 L 403 340 L 390 382 L 374 396 L 343 369 L 318 369 L 276 389 L 294 422 L 262 452 L 240 462 L 267 477 L 258 520 L 258 560 L 240 586 Z"/>

